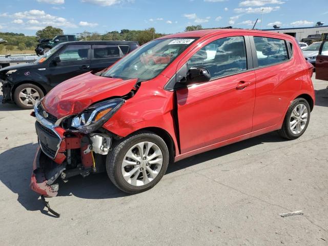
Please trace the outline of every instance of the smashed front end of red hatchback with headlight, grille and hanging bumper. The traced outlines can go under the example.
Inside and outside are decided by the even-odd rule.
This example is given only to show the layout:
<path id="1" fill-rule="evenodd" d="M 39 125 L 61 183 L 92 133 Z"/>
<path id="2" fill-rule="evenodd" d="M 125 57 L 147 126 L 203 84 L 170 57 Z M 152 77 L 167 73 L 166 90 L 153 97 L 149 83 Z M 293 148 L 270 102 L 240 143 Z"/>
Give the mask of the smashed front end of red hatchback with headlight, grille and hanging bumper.
<path id="1" fill-rule="evenodd" d="M 42 103 L 34 107 L 37 149 L 31 177 L 31 189 L 42 196 L 56 196 L 58 179 L 105 171 L 113 135 L 101 126 L 124 103 L 116 98 L 110 104 L 90 106 L 84 112 L 57 119 Z"/>

